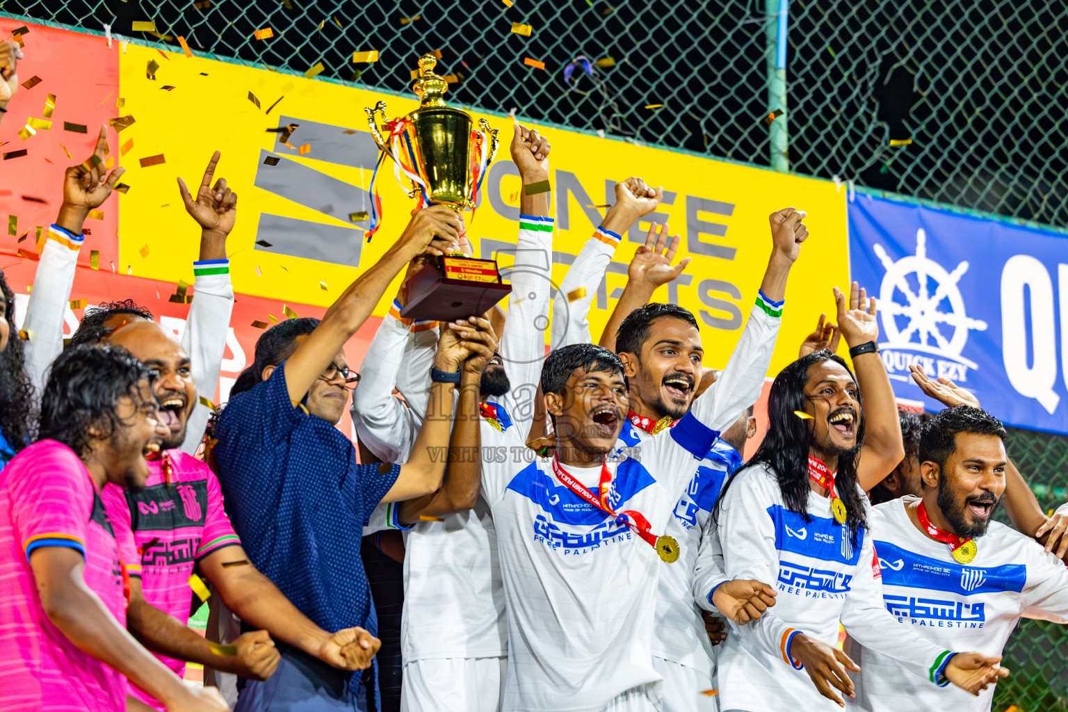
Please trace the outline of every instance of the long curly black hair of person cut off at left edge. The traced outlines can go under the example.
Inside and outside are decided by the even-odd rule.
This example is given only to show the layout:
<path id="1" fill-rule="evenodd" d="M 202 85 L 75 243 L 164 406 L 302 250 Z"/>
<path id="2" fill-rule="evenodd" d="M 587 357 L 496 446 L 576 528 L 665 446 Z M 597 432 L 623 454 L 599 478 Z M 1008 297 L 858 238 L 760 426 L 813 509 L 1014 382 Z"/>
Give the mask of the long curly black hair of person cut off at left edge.
<path id="1" fill-rule="evenodd" d="M 3 270 L 0 270 L 0 290 L 6 303 L 7 321 L 7 348 L 0 353 L 0 434 L 17 453 L 33 439 L 36 398 L 26 371 L 26 345 L 15 327 L 15 292 L 7 286 Z"/>

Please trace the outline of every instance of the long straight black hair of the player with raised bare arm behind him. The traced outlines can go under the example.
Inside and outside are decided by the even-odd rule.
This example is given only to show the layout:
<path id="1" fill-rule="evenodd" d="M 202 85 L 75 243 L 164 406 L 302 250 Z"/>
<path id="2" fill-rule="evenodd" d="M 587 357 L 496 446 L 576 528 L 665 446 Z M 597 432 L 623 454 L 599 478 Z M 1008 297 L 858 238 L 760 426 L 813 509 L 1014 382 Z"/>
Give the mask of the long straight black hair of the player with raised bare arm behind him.
<path id="1" fill-rule="evenodd" d="M 808 515 L 808 447 L 812 444 L 812 433 L 804 420 L 798 417 L 795 411 L 805 410 L 804 384 L 808 377 L 808 368 L 817 363 L 833 361 L 849 374 L 845 360 L 828 350 L 815 351 L 789 364 L 775 377 L 768 394 L 768 432 L 764 436 L 760 447 L 750 458 L 749 462 L 739 468 L 738 472 L 727 480 L 723 488 L 731 487 L 738 474 L 747 468 L 763 464 L 779 480 L 779 491 L 783 503 L 790 511 L 801 515 L 806 522 L 812 521 Z M 838 456 L 838 471 L 835 475 L 838 496 L 846 505 L 846 525 L 853 547 L 860 542 L 858 532 L 867 525 L 864 513 L 864 503 L 857 491 L 857 460 L 861 445 L 864 444 L 864 417 L 861 394 L 857 394 L 857 411 L 860 425 L 857 429 L 857 445 L 848 453 Z M 716 503 L 716 521 L 719 521 L 720 504 L 723 495 Z"/>

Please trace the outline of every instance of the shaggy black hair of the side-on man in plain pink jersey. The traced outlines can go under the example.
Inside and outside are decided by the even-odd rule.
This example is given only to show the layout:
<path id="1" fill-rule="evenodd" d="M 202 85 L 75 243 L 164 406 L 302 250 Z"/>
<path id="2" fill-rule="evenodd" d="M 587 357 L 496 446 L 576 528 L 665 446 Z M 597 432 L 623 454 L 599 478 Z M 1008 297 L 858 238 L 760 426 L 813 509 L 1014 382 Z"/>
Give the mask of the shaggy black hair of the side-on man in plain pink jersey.
<path id="1" fill-rule="evenodd" d="M 116 401 L 129 396 L 140 407 L 139 385 L 147 381 L 151 393 L 155 380 L 156 371 L 121 346 L 68 348 L 48 369 L 37 437 L 58 440 L 83 457 L 89 449 L 89 427 L 110 437 L 122 423 Z"/>

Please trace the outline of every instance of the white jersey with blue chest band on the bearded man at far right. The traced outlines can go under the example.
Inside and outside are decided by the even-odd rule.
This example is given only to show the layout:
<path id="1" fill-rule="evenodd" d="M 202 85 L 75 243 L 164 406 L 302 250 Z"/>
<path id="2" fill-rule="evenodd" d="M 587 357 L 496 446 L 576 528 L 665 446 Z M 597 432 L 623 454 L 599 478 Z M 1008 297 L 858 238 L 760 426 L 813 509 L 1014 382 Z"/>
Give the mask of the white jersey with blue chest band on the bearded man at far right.
<path id="1" fill-rule="evenodd" d="M 1068 622 L 1068 569 L 1056 556 L 990 522 L 975 540 L 975 558 L 960 564 L 909 519 L 906 506 L 914 501 L 894 500 L 871 510 L 882 598 L 897 621 L 939 647 L 986 655 L 1002 653 L 1021 617 Z M 990 710 L 993 685 L 978 697 L 956 687 L 938 690 L 926 676 L 867 647 L 853 644 L 850 652 L 861 666 L 851 674 L 857 683 L 857 699 L 847 702 L 851 710 Z"/>

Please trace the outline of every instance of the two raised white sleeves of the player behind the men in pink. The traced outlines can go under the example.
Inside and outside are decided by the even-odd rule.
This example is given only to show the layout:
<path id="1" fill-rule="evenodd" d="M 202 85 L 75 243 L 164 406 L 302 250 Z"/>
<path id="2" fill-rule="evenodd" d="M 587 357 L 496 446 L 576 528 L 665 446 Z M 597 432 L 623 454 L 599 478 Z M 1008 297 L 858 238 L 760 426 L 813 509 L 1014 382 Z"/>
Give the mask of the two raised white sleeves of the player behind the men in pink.
<path id="1" fill-rule="evenodd" d="M 30 376 L 37 394 L 44 391 L 48 366 L 63 351 L 63 317 L 74 286 L 78 252 L 83 236 L 74 236 L 52 225 L 41 251 L 41 263 L 33 278 L 33 289 L 26 307 L 22 329 L 30 334 Z M 219 366 L 226 348 L 230 316 L 234 308 L 234 289 L 230 283 L 230 260 L 193 263 L 193 301 L 189 306 L 182 346 L 189 354 L 197 392 L 208 400 L 215 397 Z M 121 296 L 116 296 L 121 298 Z M 197 402 L 189 415 L 182 449 L 197 452 L 210 410 Z"/>

